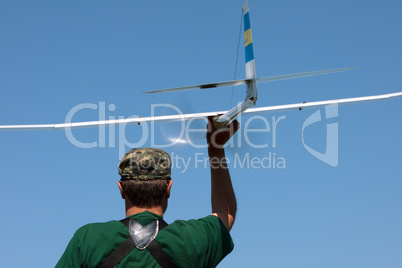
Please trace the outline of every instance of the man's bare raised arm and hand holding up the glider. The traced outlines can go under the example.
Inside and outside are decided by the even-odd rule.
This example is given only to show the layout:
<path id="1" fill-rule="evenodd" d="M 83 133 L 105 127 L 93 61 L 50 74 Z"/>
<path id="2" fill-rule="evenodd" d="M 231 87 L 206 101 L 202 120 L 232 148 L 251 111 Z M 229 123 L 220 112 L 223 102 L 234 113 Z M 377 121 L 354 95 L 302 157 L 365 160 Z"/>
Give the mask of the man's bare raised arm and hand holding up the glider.
<path id="1" fill-rule="evenodd" d="M 217 130 L 212 118 L 208 118 L 207 143 L 211 167 L 212 215 L 219 217 L 229 231 L 234 224 L 237 204 L 223 145 L 238 129 L 239 122 L 235 120 L 227 128 Z"/>

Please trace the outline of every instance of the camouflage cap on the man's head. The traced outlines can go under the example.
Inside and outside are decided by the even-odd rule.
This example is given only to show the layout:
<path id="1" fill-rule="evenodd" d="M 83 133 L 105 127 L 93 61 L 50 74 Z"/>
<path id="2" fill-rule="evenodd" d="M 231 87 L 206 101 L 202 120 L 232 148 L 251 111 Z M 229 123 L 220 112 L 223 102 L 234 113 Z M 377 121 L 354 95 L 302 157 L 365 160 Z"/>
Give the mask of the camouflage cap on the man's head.
<path id="1" fill-rule="evenodd" d="M 119 163 L 121 180 L 168 180 L 172 160 L 168 153 L 155 148 L 128 151 Z"/>

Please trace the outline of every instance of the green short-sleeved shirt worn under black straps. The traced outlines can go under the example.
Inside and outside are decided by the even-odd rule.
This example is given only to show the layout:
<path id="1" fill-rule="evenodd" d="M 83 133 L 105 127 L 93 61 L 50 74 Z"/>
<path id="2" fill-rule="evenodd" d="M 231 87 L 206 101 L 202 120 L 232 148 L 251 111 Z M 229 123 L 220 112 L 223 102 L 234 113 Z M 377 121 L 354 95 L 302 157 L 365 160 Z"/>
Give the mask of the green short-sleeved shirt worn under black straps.
<path id="1" fill-rule="evenodd" d="M 145 211 L 129 216 L 147 225 L 158 215 Z M 130 236 L 119 221 L 92 223 L 78 229 L 56 267 L 97 267 Z M 177 220 L 156 241 L 177 267 L 215 267 L 233 250 L 229 231 L 213 215 Z M 160 267 L 148 250 L 134 248 L 116 267 Z"/>

